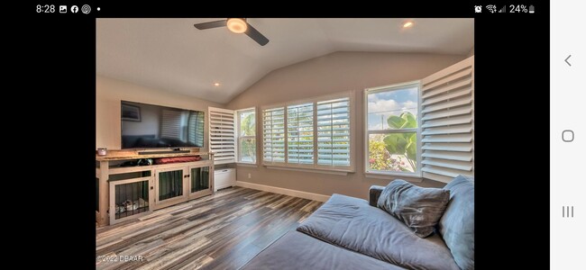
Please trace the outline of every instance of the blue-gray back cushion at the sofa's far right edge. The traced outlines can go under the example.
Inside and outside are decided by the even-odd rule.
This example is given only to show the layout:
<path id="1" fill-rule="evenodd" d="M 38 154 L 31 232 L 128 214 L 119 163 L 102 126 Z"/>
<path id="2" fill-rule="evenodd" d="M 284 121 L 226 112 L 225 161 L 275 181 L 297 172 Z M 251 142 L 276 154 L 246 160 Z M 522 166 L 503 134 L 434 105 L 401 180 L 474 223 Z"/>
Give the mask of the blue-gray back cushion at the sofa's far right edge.
<path id="1" fill-rule="evenodd" d="M 474 269 L 474 177 L 458 175 L 444 186 L 450 202 L 437 227 L 462 269 Z"/>

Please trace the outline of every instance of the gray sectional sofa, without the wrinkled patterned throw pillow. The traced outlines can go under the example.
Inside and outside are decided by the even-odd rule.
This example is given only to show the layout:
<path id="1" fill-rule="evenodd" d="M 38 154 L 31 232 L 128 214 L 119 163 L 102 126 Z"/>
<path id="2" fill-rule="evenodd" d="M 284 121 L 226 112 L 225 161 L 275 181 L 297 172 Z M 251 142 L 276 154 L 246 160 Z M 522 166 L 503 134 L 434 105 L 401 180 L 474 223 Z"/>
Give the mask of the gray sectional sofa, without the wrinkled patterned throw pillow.
<path id="1" fill-rule="evenodd" d="M 370 202 L 332 195 L 297 230 L 252 258 L 242 269 L 474 269 L 474 179 L 455 177 L 435 233 L 419 238 Z"/>

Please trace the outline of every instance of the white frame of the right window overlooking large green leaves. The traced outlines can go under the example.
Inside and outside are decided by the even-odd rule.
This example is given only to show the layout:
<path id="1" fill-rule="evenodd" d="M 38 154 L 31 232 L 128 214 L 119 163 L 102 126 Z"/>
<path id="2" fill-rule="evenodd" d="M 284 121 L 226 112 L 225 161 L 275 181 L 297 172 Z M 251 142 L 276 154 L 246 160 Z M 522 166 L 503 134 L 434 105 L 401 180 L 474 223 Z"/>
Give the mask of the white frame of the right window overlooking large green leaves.
<path id="1" fill-rule="evenodd" d="M 368 104 L 368 97 L 369 94 L 373 93 L 380 93 L 380 92 L 389 92 L 389 91 L 397 91 L 402 90 L 407 87 L 417 87 L 417 128 L 416 129 L 405 129 L 405 130 L 369 130 L 369 104 Z M 377 87 L 365 88 L 364 89 L 364 100 L 363 100 L 363 107 L 364 107 L 364 174 L 371 177 L 383 177 L 387 178 L 388 176 L 406 176 L 406 177 L 422 177 L 421 171 L 421 153 L 422 153 L 422 143 L 421 143 L 421 80 L 415 80 L 405 83 L 398 83 L 393 85 L 382 85 Z M 409 133 L 409 132 L 416 132 L 417 133 L 417 166 L 416 171 L 413 173 L 406 173 L 406 172 L 393 172 L 393 171 L 378 171 L 378 170 L 371 170 L 369 169 L 369 135 L 371 134 L 391 134 L 391 133 Z"/>

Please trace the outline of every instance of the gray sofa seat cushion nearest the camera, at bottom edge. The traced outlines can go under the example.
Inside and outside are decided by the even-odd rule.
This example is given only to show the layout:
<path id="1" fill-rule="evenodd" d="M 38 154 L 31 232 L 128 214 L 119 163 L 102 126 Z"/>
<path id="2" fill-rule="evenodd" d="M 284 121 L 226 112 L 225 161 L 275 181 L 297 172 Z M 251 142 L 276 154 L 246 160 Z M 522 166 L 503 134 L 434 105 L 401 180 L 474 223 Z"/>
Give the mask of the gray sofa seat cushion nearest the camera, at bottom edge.
<path id="1" fill-rule="evenodd" d="M 243 269 L 403 269 L 298 231 L 289 231 L 270 244 Z"/>

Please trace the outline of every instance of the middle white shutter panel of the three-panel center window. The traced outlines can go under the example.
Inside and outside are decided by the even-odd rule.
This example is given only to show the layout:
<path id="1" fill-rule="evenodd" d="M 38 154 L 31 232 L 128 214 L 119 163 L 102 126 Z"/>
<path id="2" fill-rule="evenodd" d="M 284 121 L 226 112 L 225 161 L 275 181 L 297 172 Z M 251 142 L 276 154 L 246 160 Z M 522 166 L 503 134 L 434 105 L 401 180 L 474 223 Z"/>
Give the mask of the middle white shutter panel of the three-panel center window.
<path id="1" fill-rule="evenodd" d="M 287 162 L 314 164 L 314 103 L 287 107 Z"/>

